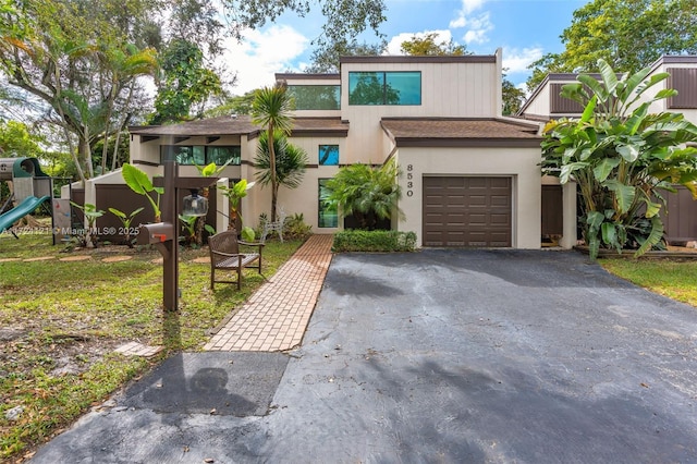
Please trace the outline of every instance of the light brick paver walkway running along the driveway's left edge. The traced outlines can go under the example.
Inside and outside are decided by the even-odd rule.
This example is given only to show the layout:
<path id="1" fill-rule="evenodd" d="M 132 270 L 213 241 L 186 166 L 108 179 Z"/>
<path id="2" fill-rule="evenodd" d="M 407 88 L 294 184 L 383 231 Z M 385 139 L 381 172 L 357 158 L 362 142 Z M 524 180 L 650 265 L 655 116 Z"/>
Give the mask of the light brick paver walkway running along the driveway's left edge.
<path id="1" fill-rule="evenodd" d="M 301 343 L 331 262 L 332 235 L 313 235 L 204 346 L 284 351 Z"/>

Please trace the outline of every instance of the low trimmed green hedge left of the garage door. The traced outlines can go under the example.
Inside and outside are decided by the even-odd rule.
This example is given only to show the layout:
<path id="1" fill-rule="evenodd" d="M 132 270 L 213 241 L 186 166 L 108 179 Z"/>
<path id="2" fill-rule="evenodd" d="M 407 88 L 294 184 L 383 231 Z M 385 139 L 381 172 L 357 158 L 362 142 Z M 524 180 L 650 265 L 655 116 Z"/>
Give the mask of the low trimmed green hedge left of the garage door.
<path id="1" fill-rule="evenodd" d="M 334 234 L 332 252 L 413 252 L 414 232 L 346 230 Z"/>

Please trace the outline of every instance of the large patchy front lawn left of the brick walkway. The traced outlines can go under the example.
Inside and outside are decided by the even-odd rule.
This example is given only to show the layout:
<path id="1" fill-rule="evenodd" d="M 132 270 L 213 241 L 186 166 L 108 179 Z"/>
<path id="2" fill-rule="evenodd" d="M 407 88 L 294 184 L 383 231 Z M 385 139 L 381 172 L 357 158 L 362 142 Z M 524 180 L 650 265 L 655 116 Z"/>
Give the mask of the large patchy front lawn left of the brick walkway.
<path id="1" fill-rule="evenodd" d="M 268 242 L 264 274 L 272 276 L 301 244 Z M 20 240 L 0 234 L 0 461 L 21 459 L 168 353 L 199 350 L 207 332 L 264 283 L 246 270 L 242 291 L 218 284 L 212 292 L 209 265 L 193 261 L 208 249 L 184 251 L 179 312 L 166 314 L 156 251 L 111 246 L 65 254 L 62 248 L 52 246 L 48 234 Z M 60 260 L 81 254 L 90 258 Z M 102 261 L 114 254 L 132 259 Z M 51 259 L 4 260 L 40 256 Z M 113 352 L 131 341 L 166 350 L 155 359 Z M 66 359 L 71 371 L 59 369 Z M 15 406 L 23 412 L 9 420 L 5 412 Z"/>

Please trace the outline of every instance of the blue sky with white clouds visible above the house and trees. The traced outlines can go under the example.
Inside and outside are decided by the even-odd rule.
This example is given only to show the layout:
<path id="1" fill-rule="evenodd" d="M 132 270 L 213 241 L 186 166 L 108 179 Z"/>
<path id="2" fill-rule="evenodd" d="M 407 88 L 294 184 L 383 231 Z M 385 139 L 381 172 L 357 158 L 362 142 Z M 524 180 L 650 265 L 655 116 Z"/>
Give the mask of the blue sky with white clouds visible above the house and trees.
<path id="1" fill-rule="evenodd" d="M 527 65 L 548 52 L 563 50 L 560 35 L 571 25 L 574 10 L 587 0 L 386 0 L 387 21 L 380 32 L 388 53 L 400 54 L 400 44 L 414 35 L 437 32 L 476 54 L 503 49 L 508 78 L 523 85 Z M 283 15 L 259 30 L 247 30 L 244 41 L 228 41 L 225 64 L 237 72 L 234 94 L 273 83 L 277 72 L 302 72 L 309 64 L 311 40 L 320 34 L 321 15 Z M 377 42 L 372 34 L 362 39 Z"/>

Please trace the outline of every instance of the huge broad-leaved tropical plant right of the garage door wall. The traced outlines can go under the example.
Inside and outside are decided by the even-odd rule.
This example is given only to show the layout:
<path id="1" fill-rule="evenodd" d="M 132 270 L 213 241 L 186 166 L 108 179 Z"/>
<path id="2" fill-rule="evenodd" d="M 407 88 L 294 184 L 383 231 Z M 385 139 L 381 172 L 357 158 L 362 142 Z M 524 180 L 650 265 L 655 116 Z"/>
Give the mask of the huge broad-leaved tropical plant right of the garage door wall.
<path id="1" fill-rule="evenodd" d="M 601 80 L 579 75 L 562 96 L 580 102 L 580 119 L 551 121 L 545 127 L 542 172 L 562 183 L 575 180 L 580 192 L 584 239 L 591 257 L 600 247 L 633 248 L 639 256 L 660 244 L 665 206 L 662 192 L 673 184 L 697 197 L 697 126 L 680 113 L 649 114 L 651 102 L 675 94 L 649 89 L 668 74 L 647 77 L 649 69 L 617 78 L 598 62 Z"/>

